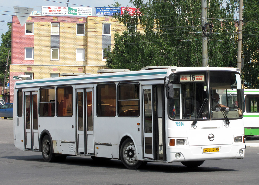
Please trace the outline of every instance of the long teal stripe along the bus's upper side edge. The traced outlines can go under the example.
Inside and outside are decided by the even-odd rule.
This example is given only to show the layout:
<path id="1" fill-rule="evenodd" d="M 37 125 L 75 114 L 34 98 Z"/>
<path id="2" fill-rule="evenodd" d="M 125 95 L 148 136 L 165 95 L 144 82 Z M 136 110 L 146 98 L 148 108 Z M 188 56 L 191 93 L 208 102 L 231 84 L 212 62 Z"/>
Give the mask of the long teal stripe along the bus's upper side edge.
<path id="1" fill-rule="evenodd" d="M 89 77 L 82 77 L 82 78 L 69 78 L 69 79 L 56 79 L 56 80 L 39 80 L 39 81 L 21 81 L 17 82 L 16 85 L 23 85 L 23 84 L 33 84 L 33 83 L 45 83 L 45 82 L 61 82 L 61 81 L 74 81 L 74 80 L 92 80 L 92 79 L 101 79 L 101 78 L 117 78 L 117 77 L 131 77 L 131 76 L 147 76 L 147 75 L 158 75 L 158 74 L 166 74 L 166 71 L 160 72 L 150 72 L 150 73 L 134 73 L 134 74 L 120 74 L 120 75 L 106 75 L 106 76 L 89 76 Z"/>

